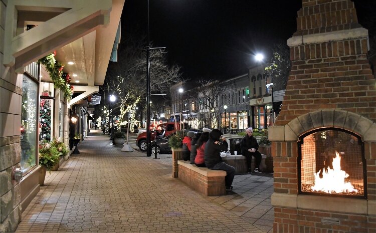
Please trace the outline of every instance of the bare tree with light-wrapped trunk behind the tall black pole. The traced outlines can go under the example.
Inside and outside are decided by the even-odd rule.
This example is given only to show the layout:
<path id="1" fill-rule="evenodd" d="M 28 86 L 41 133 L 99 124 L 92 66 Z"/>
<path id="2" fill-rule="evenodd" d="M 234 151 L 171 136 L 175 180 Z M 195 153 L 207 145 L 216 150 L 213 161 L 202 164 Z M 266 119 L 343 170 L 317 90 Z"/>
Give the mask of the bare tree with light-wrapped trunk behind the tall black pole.
<path id="1" fill-rule="evenodd" d="M 116 93 L 119 101 L 115 109 L 120 109 L 120 122 L 127 112 L 131 113 L 134 124 L 136 105 L 146 103 L 146 52 L 143 40 L 132 36 L 119 50 L 119 60 L 112 63 L 106 74 L 105 86 Z M 150 89 L 154 93 L 168 93 L 169 87 L 182 80 L 178 66 L 168 66 L 164 50 L 150 52 Z"/>

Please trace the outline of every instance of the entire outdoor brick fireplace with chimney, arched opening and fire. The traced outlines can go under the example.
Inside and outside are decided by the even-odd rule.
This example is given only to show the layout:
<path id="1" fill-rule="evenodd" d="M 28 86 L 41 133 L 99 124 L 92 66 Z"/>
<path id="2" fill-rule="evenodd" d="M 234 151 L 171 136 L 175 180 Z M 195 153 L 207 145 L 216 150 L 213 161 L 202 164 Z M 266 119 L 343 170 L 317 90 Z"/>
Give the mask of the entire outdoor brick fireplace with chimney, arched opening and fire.
<path id="1" fill-rule="evenodd" d="M 292 67 L 282 109 L 269 128 L 273 230 L 376 232 L 376 82 L 367 30 L 350 0 L 302 0 L 297 29 L 287 41 Z M 322 179 L 334 168 L 339 181 Z"/>

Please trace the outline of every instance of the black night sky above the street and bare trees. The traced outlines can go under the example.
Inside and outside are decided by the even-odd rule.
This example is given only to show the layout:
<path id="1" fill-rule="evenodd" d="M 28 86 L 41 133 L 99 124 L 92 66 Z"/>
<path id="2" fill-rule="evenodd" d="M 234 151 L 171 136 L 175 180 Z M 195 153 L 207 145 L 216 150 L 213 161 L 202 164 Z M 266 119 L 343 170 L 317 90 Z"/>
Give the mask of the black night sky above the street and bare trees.
<path id="1" fill-rule="evenodd" d="M 149 4 L 153 46 L 166 47 L 169 63 L 179 65 L 189 79 L 246 73 L 254 64 L 253 54 L 267 54 L 274 43 L 286 43 L 292 36 L 301 8 L 301 0 L 149 0 Z M 146 19 L 147 0 L 126 0 L 122 40 L 140 30 L 146 35 Z"/>

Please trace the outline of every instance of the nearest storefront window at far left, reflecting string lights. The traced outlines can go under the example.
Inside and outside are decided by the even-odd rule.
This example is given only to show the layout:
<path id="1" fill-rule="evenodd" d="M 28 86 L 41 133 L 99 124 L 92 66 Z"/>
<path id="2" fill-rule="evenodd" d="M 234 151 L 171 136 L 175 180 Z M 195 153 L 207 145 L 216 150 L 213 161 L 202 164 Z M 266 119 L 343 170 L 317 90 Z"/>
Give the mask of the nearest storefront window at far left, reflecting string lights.
<path id="1" fill-rule="evenodd" d="M 38 84 L 24 75 L 21 112 L 21 169 L 24 173 L 36 165 Z"/>

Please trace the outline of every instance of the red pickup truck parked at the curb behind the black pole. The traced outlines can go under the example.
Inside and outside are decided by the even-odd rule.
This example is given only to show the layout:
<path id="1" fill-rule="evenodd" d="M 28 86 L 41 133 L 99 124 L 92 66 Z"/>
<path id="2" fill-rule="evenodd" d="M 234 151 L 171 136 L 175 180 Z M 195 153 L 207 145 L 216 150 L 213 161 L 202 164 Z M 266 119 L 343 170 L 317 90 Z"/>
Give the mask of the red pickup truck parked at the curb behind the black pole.
<path id="1" fill-rule="evenodd" d="M 180 122 L 176 122 L 177 130 L 180 130 Z M 176 132 L 175 122 L 167 122 L 158 124 L 150 132 L 150 141 L 155 140 L 156 136 L 167 137 L 168 135 Z M 189 125 L 184 123 L 184 129 L 189 129 Z M 146 132 L 139 133 L 136 139 L 136 145 L 141 151 L 146 151 Z"/>

